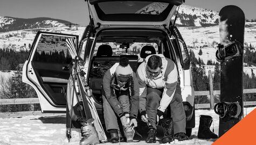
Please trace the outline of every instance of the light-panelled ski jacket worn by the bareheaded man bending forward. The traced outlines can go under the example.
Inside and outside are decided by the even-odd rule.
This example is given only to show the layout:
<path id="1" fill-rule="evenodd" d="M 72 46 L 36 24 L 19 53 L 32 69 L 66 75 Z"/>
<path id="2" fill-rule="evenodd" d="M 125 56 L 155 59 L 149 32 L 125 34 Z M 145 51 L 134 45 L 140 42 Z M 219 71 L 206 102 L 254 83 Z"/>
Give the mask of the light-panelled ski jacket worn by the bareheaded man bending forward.
<path id="1" fill-rule="evenodd" d="M 162 54 L 157 55 L 162 59 L 161 73 L 157 77 L 151 77 L 148 71 L 148 59 L 151 55 L 146 57 L 146 60 L 140 64 L 136 72 L 140 86 L 140 112 L 146 111 L 147 86 L 156 89 L 164 88 L 160 106 L 158 107 L 158 110 L 162 112 L 166 110 L 174 97 L 178 81 L 176 64 Z"/>

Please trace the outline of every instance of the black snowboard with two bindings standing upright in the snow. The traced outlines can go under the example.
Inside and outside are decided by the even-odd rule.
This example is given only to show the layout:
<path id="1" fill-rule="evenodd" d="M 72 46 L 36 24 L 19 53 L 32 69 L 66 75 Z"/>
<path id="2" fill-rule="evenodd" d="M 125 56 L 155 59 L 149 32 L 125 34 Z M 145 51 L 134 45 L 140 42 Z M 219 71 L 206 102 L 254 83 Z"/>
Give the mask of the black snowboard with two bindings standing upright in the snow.
<path id="1" fill-rule="evenodd" d="M 219 137 L 243 118 L 243 53 L 245 14 L 238 6 L 227 5 L 219 12 L 220 60 Z"/>

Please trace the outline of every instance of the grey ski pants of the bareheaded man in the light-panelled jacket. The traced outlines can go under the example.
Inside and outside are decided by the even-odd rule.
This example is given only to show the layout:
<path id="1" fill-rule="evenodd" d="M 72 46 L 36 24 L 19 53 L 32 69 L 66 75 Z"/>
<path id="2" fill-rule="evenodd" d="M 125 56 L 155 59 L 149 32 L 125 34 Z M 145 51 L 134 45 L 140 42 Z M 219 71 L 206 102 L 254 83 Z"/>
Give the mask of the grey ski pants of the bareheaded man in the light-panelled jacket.
<path id="1" fill-rule="evenodd" d="M 154 89 L 147 87 L 147 103 L 146 113 L 148 114 L 149 123 L 156 128 L 156 113 L 160 105 L 163 89 Z M 177 83 L 174 98 L 171 103 L 171 117 L 174 121 L 174 134 L 183 132 L 186 133 L 186 115 L 182 103 L 181 86 Z"/>

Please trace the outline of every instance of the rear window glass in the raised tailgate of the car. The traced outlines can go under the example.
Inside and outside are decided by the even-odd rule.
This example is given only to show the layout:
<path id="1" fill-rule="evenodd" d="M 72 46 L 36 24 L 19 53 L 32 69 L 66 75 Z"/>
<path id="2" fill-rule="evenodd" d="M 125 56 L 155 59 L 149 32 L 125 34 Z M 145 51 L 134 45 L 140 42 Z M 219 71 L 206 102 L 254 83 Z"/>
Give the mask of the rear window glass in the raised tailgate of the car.
<path id="1" fill-rule="evenodd" d="M 114 1 L 94 5 L 103 21 L 163 21 L 173 4 L 163 2 Z"/>

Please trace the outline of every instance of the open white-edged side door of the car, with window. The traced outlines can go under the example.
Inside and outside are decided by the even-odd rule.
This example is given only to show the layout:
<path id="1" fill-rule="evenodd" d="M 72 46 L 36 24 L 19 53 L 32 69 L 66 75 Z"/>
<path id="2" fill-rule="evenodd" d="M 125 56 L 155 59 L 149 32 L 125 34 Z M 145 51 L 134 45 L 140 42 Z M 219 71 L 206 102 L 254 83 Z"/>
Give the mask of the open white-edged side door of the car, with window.
<path id="1" fill-rule="evenodd" d="M 22 81 L 36 90 L 43 113 L 66 111 L 68 64 L 72 61 L 67 38 L 78 44 L 78 35 L 39 31 L 23 67 Z"/>

